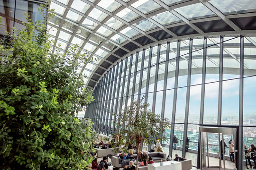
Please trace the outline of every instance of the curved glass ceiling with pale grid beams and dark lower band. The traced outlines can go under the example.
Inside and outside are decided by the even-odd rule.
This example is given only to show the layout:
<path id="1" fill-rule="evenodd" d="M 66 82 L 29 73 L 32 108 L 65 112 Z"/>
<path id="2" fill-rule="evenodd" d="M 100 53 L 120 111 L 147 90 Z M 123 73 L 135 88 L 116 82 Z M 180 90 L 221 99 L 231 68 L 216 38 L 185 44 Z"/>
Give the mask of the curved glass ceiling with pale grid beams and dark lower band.
<path id="1" fill-rule="evenodd" d="M 50 0 L 50 8 L 53 52 L 78 44 L 96 59 L 77 70 L 91 88 L 117 61 L 157 43 L 256 30 L 255 0 Z"/>

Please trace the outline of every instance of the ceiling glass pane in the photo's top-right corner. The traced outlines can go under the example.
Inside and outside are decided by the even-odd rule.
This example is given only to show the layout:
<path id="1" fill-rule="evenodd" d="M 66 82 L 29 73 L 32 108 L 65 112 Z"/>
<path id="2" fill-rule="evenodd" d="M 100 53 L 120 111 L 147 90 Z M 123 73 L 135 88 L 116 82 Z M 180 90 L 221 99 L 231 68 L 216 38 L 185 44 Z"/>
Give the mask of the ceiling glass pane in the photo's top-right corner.
<path id="1" fill-rule="evenodd" d="M 256 11 L 255 0 L 209 0 L 209 2 L 225 15 Z"/>

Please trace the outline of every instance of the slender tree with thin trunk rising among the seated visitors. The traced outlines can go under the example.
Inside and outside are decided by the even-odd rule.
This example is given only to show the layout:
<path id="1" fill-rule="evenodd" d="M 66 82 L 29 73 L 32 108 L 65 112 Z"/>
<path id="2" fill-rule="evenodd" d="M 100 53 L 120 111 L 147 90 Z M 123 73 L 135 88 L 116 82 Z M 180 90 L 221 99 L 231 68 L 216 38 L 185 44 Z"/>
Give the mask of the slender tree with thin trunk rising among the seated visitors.
<path id="1" fill-rule="evenodd" d="M 125 144 L 125 151 L 129 145 L 136 145 L 137 155 L 142 142 L 150 144 L 157 141 L 157 136 L 162 136 L 166 128 L 171 128 L 167 119 L 161 118 L 151 110 L 147 110 L 148 103 L 144 102 L 145 97 L 140 100 L 132 102 L 126 110 L 122 110 L 117 114 L 116 131 L 113 135 L 119 136 L 118 146 Z M 167 138 L 162 136 L 161 140 L 165 141 Z M 137 167 L 138 170 L 138 156 Z"/>

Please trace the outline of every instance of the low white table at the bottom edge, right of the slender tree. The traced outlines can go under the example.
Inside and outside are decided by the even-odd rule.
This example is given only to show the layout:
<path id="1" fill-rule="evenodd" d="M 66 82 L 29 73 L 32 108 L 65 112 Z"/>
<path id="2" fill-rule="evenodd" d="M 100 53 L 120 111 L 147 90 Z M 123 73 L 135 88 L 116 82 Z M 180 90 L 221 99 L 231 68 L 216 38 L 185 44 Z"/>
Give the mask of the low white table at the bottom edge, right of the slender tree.
<path id="1" fill-rule="evenodd" d="M 164 161 L 148 164 L 147 170 L 182 170 L 182 166 L 178 161 Z"/>

